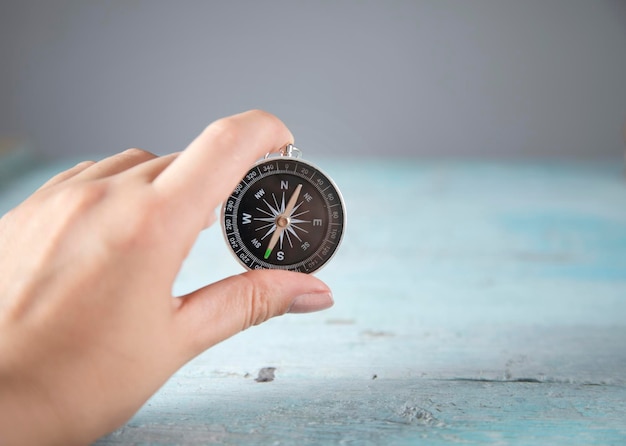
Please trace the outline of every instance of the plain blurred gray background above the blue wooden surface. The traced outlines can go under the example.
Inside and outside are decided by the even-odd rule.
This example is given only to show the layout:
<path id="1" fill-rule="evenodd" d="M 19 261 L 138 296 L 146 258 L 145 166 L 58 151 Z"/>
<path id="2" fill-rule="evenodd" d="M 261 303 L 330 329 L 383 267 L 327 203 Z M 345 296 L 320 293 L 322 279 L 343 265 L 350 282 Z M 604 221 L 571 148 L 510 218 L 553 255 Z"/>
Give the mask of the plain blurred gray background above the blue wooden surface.
<path id="1" fill-rule="evenodd" d="M 0 136 L 183 148 L 248 108 L 308 155 L 623 153 L 626 2 L 6 1 Z"/>

